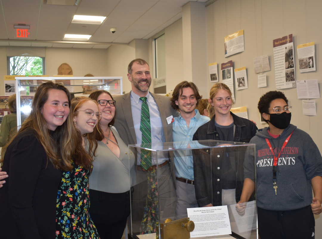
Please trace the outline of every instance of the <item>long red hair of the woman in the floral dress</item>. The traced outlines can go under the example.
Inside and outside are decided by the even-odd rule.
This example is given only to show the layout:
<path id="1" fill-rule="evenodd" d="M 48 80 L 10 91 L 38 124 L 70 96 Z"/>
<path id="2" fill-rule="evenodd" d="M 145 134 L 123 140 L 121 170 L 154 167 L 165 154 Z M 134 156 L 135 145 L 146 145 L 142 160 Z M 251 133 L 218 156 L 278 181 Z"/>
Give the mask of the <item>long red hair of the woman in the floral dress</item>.
<path id="1" fill-rule="evenodd" d="M 81 107 L 82 104 L 84 104 L 86 101 L 89 101 L 89 100 L 93 101 L 93 102 L 95 102 L 95 104 L 97 104 L 97 102 L 95 100 L 92 100 L 92 99 L 85 97 L 85 96 L 73 98 L 71 100 L 72 115 L 73 116 L 78 115 L 77 110 Z M 80 132 L 79 132 L 79 135 L 81 135 Z M 88 139 L 88 142 L 89 142 L 89 148 L 88 148 L 88 154 L 87 154 L 88 157 L 80 158 L 79 163 L 77 163 L 77 164 L 84 166 L 88 169 L 88 167 L 90 166 L 90 164 L 92 162 L 93 156 L 96 156 L 96 149 L 98 146 L 97 141 L 98 140 L 101 141 L 104 138 L 103 130 L 99 124 L 99 121 L 97 122 L 93 132 L 85 134 L 85 137 Z"/>

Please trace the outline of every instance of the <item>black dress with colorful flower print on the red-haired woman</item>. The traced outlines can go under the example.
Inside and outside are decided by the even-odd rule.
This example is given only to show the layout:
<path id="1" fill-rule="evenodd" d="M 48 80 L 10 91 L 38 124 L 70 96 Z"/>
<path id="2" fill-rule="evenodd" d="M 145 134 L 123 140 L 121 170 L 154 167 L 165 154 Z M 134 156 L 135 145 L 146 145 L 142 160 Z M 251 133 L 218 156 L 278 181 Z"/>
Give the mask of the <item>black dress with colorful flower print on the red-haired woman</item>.
<path id="1" fill-rule="evenodd" d="M 57 193 L 56 239 L 99 239 L 89 214 L 88 178 L 92 168 L 74 165 L 71 172 L 63 172 Z"/>

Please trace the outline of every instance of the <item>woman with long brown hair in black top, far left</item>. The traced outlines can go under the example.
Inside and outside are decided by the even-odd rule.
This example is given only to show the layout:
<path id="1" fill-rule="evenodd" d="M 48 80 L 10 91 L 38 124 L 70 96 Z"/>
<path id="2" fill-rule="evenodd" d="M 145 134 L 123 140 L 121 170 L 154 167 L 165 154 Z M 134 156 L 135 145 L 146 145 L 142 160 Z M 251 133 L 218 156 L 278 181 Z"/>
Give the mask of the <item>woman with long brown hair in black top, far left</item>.
<path id="1" fill-rule="evenodd" d="M 63 85 L 38 86 L 30 115 L 2 148 L 3 171 L 10 174 L 0 194 L 4 238 L 55 237 L 61 170 L 72 169 L 71 157 L 78 147 L 70 107 L 71 95 Z"/>

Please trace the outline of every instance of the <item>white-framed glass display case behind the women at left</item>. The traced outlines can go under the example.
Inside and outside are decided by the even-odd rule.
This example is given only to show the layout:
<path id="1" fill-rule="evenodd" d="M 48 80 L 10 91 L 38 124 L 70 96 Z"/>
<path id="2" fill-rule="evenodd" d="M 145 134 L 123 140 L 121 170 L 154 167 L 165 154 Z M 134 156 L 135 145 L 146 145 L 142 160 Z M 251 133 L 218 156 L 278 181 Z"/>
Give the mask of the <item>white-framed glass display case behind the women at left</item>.
<path id="1" fill-rule="evenodd" d="M 88 96 L 98 90 L 106 90 L 111 95 L 122 95 L 123 92 L 122 77 L 15 77 L 17 125 L 29 115 L 37 87 L 48 81 L 66 86 L 72 98 L 75 95 Z"/>

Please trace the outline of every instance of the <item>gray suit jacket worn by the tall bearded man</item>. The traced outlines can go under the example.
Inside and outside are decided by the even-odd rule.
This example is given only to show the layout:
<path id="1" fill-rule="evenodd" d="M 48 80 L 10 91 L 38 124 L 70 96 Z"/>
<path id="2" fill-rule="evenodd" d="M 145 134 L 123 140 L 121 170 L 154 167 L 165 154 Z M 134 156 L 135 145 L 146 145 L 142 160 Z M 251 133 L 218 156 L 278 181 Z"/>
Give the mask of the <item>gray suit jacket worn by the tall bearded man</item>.
<path id="1" fill-rule="evenodd" d="M 163 133 L 166 142 L 173 142 L 172 140 L 172 124 L 168 124 L 166 118 L 169 116 L 178 117 L 179 112 L 172 108 L 170 105 L 170 98 L 168 96 L 156 95 L 151 93 L 159 107 Z M 125 144 L 137 144 L 137 137 L 135 134 L 132 109 L 131 109 L 131 92 L 125 95 L 118 95 L 114 97 L 116 101 L 116 119 L 114 126 L 118 130 L 121 139 Z M 175 179 L 174 164 L 170 159 L 170 168 L 173 178 Z M 175 181 L 175 180 L 174 180 Z"/>

